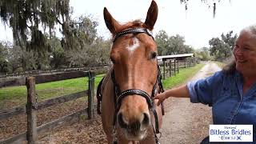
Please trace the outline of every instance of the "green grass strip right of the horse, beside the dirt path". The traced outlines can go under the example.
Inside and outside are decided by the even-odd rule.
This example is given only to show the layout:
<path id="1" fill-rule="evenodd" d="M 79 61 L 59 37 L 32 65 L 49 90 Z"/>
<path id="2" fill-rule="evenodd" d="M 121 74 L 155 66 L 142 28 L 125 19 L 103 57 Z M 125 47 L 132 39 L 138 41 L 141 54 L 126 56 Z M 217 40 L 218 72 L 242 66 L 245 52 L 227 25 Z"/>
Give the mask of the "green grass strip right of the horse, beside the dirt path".
<path id="1" fill-rule="evenodd" d="M 178 74 L 173 77 L 168 77 L 162 81 L 164 89 L 170 89 L 171 87 L 178 86 L 188 81 L 188 79 L 193 77 L 194 74 L 196 74 L 204 65 L 205 64 L 198 64 L 194 67 L 180 69 Z"/>

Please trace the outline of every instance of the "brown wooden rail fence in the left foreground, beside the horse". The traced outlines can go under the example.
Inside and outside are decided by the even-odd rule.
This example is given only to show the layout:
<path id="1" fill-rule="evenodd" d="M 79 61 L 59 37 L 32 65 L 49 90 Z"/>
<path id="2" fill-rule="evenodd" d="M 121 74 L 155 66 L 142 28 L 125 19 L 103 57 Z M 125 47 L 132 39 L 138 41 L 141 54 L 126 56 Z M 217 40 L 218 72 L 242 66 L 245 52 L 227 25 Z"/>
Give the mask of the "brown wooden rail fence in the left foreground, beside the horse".
<path id="1" fill-rule="evenodd" d="M 27 130 L 25 133 L 15 135 L 14 137 L 0 140 L 1 144 L 7 143 L 22 143 L 27 141 L 30 143 L 36 143 L 38 134 L 42 134 L 48 130 L 53 129 L 56 126 L 62 125 L 62 123 L 70 122 L 74 118 L 79 118 L 81 115 L 85 115 L 86 118 L 94 118 L 94 78 L 96 74 L 104 74 L 106 70 L 97 71 L 74 71 L 61 74 L 45 74 L 34 77 L 18 77 L 18 78 L 1 78 L 0 88 L 5 86 L 26 86 L 27 88 L 27 104 L 26 106 L 17 106 L 9 110 L 0 110 L 0 120 L 10 118 L 17 114 L 27 115 Z M 61 81 L 70 78 L 82 78 L 88 77 L 88 90 L 80 91 L 75 94 L 69 94 L 58 98 L 47 99 L 42 102 L 37 102 L 37 94 L 35 93 L 35 84 Z M 71 100 L 88 96 L 88 107 L 86 109 L 75 112 L 74 114 L 66 115 L 62 118 L 58 118 L 52 122 L 37 126 L 36 114 L 37 110 L 42 110 L 49 106 L 54 106 L 63 102 L 69 102 Z"/>

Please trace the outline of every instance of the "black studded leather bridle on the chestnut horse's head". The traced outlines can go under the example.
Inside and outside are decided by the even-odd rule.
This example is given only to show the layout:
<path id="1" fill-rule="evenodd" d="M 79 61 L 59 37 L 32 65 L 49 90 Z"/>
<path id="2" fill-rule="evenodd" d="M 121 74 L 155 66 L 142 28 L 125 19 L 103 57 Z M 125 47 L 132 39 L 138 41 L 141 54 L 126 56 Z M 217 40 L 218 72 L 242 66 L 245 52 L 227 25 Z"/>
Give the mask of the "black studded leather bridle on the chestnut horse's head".
<path id="1" fill-rule="evenodd" d="M 138 28 L 138 29 L 132 29 L 132 30 L 125 30 L 125 31 L 122 31 L 122 32 L 116 34 L 115 37 L 114 37 L 113 42 L 115 42 L 116 39 L 121 37 L 122 35 L 125 35 L 125 34 L 139 34 L 139 33 L 148 34 L 150 37 L 153 38 L 153 35 L 152 35 L 150 30 L 144 29 L 144 28 Z M 111 78 L 112 78 L 112 82 L 114 83 L 114 93 L 115 93 L 115 97 L 114 97 L 115 113 L 114 113 L 113 125 L 115 126 L 115 123 L 116 123 L 116 120 L 117 120 L 118 110 L 120 109 L 122 99 L 126 98 L 126 96 L 132 96 L 134 94 L 140 95 L 143 98 L 146 98 L 146 102 L 147 102 L 150 110 L 152 110 L 152 112 L 154 114 L 154 119 L 155 119 L 155 130 L 154 130 L 154 127 L 153 127 L 154 136 L 155 136 L 155 139 L 156 139 L 156 143 L 159 143 L 158 137 L 156 136 L 156 134 L 159 133 L 158 114 L 157 114 L 157 112 L 155 110 L 155 107 L 154 107 L 153 98 L 154 98 L 155 94 L 157 93 L 157 91 L 158 91 L 158 93 L 163 92 L 163 87 L 162 87 L 162 82 L 161 82 L 160 66 L 158 66 L 157 69 L 158 69 L 158 77 L 156 79 L 156 82 L 154 83 L 151 95 L 147 94 L 144 90 L 138 90 L 138 89 L 130 89 L 130 90 L 121 91 L 120 87 L 118 86 L 118 83 L 115 80 L 114 70 L 112 70 L 112 72 L 111 72 Z M 159 87 L 159 90 L 157 90 L 157 87 Z"/>

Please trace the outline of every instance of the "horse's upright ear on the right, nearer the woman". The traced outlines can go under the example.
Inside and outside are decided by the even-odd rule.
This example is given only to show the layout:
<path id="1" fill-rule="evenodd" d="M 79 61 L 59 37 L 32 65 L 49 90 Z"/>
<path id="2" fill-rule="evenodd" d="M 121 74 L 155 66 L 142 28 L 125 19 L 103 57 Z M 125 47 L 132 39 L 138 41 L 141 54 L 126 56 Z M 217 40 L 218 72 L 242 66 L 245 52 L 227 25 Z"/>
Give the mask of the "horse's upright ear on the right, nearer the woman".
<path id="1" fill-rule="evenodd" d="M 158 19 L 158 5 L 154 0 L 151 2 L 150 8 L 147 11 L 146 15 L 146 21 L 144 22 L 146 24 L 146 27 L 149 30 L 153 30 L 154 28 L 154 23 Z"/>

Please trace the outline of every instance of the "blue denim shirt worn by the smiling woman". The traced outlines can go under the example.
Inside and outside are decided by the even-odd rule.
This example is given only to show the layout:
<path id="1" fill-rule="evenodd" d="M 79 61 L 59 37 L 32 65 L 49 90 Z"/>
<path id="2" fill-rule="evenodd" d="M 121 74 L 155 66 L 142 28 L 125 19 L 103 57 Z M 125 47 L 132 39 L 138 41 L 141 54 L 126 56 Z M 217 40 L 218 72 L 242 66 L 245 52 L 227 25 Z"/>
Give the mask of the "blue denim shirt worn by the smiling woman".
<path id="1" fill-rule="evenodd" d="M 242 94 L 242 74 L 216 72 L 197 82 L 188 82 L 190 102 L 212 106 L 214 124 L 254 125 L 256 142 L 256 83 Z"/>

